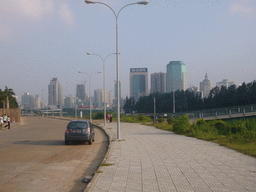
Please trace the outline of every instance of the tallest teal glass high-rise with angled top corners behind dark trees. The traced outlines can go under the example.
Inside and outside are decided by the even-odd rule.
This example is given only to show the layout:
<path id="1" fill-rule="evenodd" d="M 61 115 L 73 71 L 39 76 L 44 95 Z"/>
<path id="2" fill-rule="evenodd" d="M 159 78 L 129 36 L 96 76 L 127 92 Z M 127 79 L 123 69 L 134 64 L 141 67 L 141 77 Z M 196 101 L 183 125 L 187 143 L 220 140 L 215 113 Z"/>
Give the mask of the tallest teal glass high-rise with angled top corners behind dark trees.
<path id="1" fill-rule="evenodd" d="M 170 61 L 166 65 L 166 92 L 186 90 L 187 72 L 182 61 Z"/>

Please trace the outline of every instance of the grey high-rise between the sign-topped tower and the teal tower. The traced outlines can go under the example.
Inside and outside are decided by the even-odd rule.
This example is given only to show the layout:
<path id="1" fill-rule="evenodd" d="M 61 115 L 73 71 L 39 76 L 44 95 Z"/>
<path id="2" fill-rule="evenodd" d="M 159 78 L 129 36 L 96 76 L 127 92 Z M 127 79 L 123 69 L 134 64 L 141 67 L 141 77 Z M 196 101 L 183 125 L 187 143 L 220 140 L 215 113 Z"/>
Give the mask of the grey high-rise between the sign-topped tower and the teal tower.
<path id="1" fill-rule="evenodd" d="M 150 75 L 151 89 L 150 93 L 165 93 L 166 92 L 166 73 L 152 73 Z"/>

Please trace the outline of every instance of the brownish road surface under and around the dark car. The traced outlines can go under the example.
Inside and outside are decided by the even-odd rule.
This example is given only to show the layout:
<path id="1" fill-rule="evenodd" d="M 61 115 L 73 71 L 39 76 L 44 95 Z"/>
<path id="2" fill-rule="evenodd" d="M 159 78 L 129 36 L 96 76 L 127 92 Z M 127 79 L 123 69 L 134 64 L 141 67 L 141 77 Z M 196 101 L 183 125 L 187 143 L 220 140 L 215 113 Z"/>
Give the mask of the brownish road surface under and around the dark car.
<path id="1" fill-rule="evenodd" d="M 92 145 L 64 145 L 68 121 L 22 117 L 0 130 L 0 191 L 84 191 L 107 152 L 107 137 L 95 129 Z"/>

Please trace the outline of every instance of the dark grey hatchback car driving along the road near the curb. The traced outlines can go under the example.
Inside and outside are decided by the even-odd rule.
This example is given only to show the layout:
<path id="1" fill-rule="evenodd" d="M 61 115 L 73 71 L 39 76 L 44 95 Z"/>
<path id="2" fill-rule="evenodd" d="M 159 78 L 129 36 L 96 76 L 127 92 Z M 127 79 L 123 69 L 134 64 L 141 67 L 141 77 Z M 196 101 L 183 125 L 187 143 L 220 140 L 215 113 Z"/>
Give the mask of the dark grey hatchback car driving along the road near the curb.
<path id="1" fill-rule="evenodd" d="M 65 145 L 68 145 L 70 141 L 83 141 L 91 145 L 94 138 L 95 132 L 90 121 L 75 120 L 68 123 L 65 131 Z"/>

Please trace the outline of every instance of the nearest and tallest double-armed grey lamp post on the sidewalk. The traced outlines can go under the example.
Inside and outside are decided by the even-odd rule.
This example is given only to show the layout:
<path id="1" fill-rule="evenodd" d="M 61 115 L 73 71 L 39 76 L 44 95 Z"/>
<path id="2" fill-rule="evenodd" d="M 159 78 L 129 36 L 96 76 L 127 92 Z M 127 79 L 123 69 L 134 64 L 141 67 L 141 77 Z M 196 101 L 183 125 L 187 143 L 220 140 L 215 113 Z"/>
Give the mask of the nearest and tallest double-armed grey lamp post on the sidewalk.
<path id="1" fill-rule="evenodd" d="M 87 4 L 95 4 L 95 3 L 98 3 L 98 4 L 102 4 L 102 5 L 105 5 L 107 6 L 108 8 L 110 8 L 115 17 L 116 17 L 116 81 L 117 81 L 117 140 L 120 139 L 120 90 L 119 90 L 119 59 L 118 59 L 118 16 L 119 16 L 119 13 L 120 11 L 129 6 L 129 5 L 147 5 L 148 4 L 148 1 L 139 1 L 139 2 L 136 2 L 136 3 L 130 3 L 130 4 L 127 4 L 125 6 L 123 6 L 119 11 L 118 13 L 116 14 L 116 12 L 106 3 L 102 3 L 102 2 L 98 2 L 98 1 L 93 1 L 93 0 L 85 0 L 85 3 Z"/>

